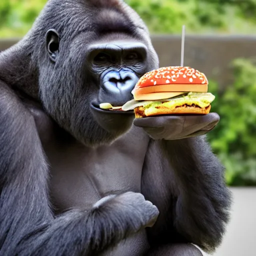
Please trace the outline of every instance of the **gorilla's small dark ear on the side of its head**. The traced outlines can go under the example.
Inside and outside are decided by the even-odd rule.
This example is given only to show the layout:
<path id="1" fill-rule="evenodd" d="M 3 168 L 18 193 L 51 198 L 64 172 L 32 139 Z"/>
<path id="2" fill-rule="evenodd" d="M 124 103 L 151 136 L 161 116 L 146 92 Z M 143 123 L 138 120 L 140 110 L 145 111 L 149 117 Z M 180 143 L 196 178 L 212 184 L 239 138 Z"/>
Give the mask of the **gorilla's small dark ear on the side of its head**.
<path id="1" fill-rule="evenodd" d="M 56 30 L 49 29 L 46 32 L 46 51 L 49 58 L 55 62 L 59 48 L 59 35 Z"/>

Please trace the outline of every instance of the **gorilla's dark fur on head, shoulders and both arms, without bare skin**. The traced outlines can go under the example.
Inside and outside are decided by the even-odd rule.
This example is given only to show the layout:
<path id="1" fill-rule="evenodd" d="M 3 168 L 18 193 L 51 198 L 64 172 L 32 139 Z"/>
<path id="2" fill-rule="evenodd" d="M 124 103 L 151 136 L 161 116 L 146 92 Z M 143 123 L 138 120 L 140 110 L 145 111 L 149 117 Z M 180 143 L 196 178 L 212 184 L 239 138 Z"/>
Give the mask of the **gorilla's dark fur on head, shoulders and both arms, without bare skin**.
<path id="1" fill-rule="evenodd" d="M 60 35 L 55 63 L 45 50 L 51 28 Z M 88 148 L 122 137 L 127 128 L 106 131 L 89 108 L 97 98 L 99 79 L 86 61 L 87 48 L 112 38 L 146 45 L 143 72 L 158 66 L 144 23 L 118 0 L 49 0 L 27 35 L 0 53 L 0 255 L 95 255 L 151 226 L 158 210 L 155 225 L 147 230 L 152 255 L 164 255 L 171 243 L 183 244 L 179 253 L 186 255 L 199 252 L 184 243 L 207 251 L 220 243 L 230 196 L 223 167 L 203 137 L 146 138 L 141 193 L 158 210 L 141 194 L 128 192 L 97 207 L 72 208 L 60 216 L 52 212 L 50 163 L 40 140 L 48 126 L 38 129 L 37 122 L 43 121 L 27 102 Z M 177 249 L 167 251 L 171 255 Z"/>

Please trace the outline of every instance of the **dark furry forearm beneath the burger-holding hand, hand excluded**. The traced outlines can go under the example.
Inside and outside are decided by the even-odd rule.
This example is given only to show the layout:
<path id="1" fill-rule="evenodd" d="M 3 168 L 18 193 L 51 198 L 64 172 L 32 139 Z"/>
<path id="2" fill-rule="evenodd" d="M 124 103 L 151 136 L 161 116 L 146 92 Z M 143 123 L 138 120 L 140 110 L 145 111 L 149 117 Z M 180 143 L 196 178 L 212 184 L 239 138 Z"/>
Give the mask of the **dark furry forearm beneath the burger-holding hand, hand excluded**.
<path id="1" fill-rule="evenodd" d="M 149 172 L 152 165 L 157 173 Z M 149 231 L 150 242 L 190 241 L 205 251 L 214 251 L 228 221 L 230 194 L 223 181 L 223 166 L 204 136 L 152 141 L 144 168 L 148 172 L 143 173 L 142 193 L 159 209 L 157 222 L 166 223 L 160 226 L 156 222 Z M 159 197 L 165 204 L 158 204 Z M 167 212 L 168 219 L 162 219 Z M 165 238 L 155 235 L 158 232 Z"/>

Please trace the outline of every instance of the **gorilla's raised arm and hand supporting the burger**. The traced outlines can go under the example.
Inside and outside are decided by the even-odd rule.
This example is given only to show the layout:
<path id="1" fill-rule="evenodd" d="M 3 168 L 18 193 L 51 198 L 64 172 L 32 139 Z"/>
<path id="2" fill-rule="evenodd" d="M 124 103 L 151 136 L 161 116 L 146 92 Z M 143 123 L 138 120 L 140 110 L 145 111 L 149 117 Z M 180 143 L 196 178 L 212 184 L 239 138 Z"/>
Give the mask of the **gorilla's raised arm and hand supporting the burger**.
<path id="1" fill-rule="evenodd" d="M 223 167 L 205 137 L 191 135 L 206 133 L 218 118 L 212 113 L 134 120 L 155 138 L 150 142 L 142 177 L 142 193 L 160 211 L 156 224 L 148 230 L 149 243 L 157 248 L 152 249 L 152 255 L 164 255 L 160 243 L 191 242 L 211 252 L 221 242 L 230 206 Z M 166 255 L 172 255 L 171 250 Z"/>

